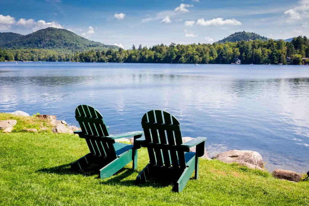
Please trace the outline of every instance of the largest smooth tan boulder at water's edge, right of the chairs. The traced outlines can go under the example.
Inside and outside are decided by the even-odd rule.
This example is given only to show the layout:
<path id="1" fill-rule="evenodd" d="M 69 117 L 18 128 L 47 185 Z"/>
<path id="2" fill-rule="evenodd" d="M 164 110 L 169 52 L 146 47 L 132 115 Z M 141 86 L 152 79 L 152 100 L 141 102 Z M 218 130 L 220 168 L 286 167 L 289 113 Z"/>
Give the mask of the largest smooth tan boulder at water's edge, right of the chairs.
<path id="1" fill-rule="evenodd" d="M 263 167 L 263 158 L 260 153 L 249 150 L 231 150 L 215 155 L 212 159 L 218 159 L 226 163 L 247 162 L 252 165 Z"/>

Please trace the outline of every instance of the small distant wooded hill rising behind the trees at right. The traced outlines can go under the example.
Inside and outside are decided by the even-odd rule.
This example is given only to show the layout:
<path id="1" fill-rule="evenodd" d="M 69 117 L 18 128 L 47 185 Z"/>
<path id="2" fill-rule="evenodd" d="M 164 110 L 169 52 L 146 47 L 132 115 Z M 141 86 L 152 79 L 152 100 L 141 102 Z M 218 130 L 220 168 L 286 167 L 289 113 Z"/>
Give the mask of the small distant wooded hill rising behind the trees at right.
<path id="1" fill-rule="evenodd" d="M 234 34 L 225 37 L 224 39 L 218 41 L 218 43 L 225 43 L 225 42 L 236 42 L 236 41 L 250 41 L 250 40 L 263 40 L 266 41 L 267 38 L 265 36 L 260 36 L 259 34 L 253 32 L 235 32 Z"/>

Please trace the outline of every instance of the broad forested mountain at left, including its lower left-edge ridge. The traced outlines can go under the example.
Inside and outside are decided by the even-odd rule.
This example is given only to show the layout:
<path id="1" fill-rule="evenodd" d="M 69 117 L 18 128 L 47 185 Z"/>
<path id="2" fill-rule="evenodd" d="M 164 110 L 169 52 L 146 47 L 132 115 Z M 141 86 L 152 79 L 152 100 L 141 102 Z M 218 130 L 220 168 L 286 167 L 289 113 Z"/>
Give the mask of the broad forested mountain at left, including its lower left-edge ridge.
<path id="1" fill-rule="evenodd" d="M 0 42 L 0 48 L 42 48 L 64 52 L 86 51 L 92 48 L 105 48 L 105 50 L 107 48 L 118 49 L 114 45 L 106 45 L 85 39 L 66 29 L 52 27 L 41 29 L 28 35 L 20 35 L 12 32 L 1 33 L 1 35 L 6 36 L 6 39 Z"/>

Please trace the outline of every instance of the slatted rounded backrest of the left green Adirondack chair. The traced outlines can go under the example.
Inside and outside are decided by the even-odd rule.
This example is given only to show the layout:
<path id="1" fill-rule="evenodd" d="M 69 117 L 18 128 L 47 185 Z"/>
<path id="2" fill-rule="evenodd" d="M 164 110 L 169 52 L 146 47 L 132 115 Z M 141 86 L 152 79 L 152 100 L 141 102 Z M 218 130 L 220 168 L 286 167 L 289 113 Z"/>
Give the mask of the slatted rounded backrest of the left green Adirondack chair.
<path id="1" fill-rule="evenodd" d="M 108 128 L 98 110 L 88 105 L 79 105 L 75 110 L 75 118 L 93 155 L 101 158 L 117 158 L 113 145 L 115 141 L 104 138 L 109 136 Z"/>

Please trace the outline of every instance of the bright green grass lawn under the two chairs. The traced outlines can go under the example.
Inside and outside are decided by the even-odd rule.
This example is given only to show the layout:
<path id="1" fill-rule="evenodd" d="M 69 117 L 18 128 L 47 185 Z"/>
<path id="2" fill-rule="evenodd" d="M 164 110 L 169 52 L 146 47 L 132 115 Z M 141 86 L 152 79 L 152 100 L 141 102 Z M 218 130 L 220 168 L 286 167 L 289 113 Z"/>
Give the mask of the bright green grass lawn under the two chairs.
<path id="1" fill-rule="evenodd" d="M 166 182 L 135 186 L 148 163 L 146 149 L 108 179 L 89 170 L 73 173 L 69 164 L 88 148 L 75 135 L 0 134 L 0 205 L 309 205 L 309 182 L 291 183 L 237 164 L 200 159 L 199 179 L 181 193 Z"/>

